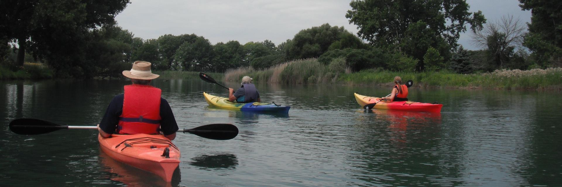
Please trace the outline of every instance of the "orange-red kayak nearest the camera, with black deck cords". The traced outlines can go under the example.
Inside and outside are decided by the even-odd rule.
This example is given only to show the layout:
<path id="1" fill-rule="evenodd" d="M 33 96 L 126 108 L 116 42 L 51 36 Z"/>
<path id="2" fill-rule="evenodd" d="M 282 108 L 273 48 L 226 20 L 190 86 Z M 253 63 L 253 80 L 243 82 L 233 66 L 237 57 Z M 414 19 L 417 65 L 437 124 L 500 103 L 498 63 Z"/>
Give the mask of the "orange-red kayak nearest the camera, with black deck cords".
<path id="1" fill-rule="evenodd" d="M 179 149 L 164 135 L 98 135 L 99 147 L 111 158 L 126 165 L 152 172 L 167 182 L 179 166 Z M 164 154 L 165 150 L 169 154 Z M 169 158 L 166 158 L 169 156 Z"/>

